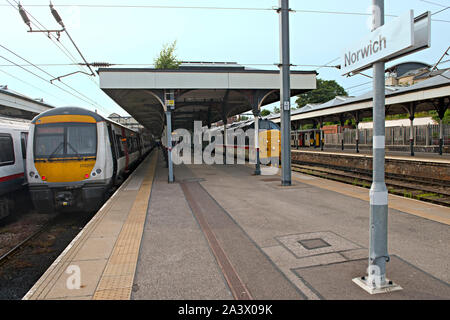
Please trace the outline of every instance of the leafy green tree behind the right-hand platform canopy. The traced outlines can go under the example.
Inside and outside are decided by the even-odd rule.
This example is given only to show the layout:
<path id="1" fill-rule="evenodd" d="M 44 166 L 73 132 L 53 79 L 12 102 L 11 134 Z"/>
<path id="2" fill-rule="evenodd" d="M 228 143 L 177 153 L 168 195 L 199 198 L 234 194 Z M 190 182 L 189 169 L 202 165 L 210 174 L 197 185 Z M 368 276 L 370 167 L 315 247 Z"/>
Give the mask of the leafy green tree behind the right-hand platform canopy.
<path id="1" fill-rule="evenodd" d="M 295 102 L 299 108 L 308 103 L 324 103 L 336 96 L 347 96 L 347 92 L 334 80 L 317 79 L 317 89 L 298 95 Z"/>

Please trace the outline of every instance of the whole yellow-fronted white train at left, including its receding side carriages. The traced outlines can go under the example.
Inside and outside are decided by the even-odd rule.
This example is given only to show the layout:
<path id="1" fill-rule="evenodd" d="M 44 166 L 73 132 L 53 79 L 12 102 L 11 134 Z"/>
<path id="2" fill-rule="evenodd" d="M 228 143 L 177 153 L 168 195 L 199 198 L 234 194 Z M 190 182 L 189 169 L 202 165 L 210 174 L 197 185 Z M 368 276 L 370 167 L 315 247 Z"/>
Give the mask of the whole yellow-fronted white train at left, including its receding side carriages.
<path id="1" fill-rule="evenodd" d="M 27 148 L 36 210 L 97 210 L 149 149 L 137 132 L 86 109 L 63 107 L 38 115 Z"/>

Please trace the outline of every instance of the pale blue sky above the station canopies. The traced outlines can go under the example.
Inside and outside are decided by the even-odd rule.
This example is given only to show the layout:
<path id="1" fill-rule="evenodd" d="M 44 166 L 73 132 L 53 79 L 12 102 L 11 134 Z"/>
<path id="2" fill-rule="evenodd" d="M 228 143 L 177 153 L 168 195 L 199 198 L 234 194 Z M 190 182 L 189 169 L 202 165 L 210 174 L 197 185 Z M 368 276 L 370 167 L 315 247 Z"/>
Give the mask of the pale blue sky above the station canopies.
<path id="1" fill-rule="evenodd" d="M 0 85 L 31 98 L 43 98 L 44 102 L 54 106 L 79 106 L 91 110 L 97 109 L 104 116 L 112 112 L 121 115 L 127 113 L 111 100 L 99 88 L 99 78 L 77 73 L 64 77 L 59 87 L 44 81 L 52 77 L 75 72 L 73 65 L 51 66 L 47 64 L 70 64 L 70 56 L 76 62 L 82 62 L 66 34 L 61 34 L 60 42 L 69 51 L 66 54 L 52 42 L 46 34 L 29 33 L 18 11 L 8 2 L 0 0 Z M 279 63 L 279 17 L 273 9 L 277 0 L 54 0 L 55 8 L 62 17 L 71 37 L 89 62 L 108 62 L 116 64 L 143 64 L 137 67 L 151 67 L 163 45 L 177 41 L 176 55 L 183 61 L 228 61 L 258 68 L 277 69 Z M 24 8 L 47 29 L 58 29 L 43 0 L 21 1 Z M 110 8 L 83 7 L 80 5 L 147 5 L 147 6 L 190 6 L 247 8 L 240 10 L 210 10 L 200 8 Z M 290 14 L 290 57 L 292 70 L 317 70 L 318 78 L 335 80 L 350 95 L 360 95 L 371 89 L 371 79 L 356 75 L 344 77 L 336 68 L 325 65 L 338 58 L 341 51 L 370 32 L 369 15 L 337 14 L 336 12 L 371 12 L 371 0 L 290 0 L 293 10 Z M 39 6 L 42 5 L 42 6 Z M 417 16 L 425 11 L 438 12 L 450 6 L 450 0 L 385 0 L 385 22 L 413 9 Z M 253 8 L 252 10 L 249 10 Z M 303 11 L 300 11 L 303 10 Z M 318 13 L 304 11 L 328 11 Z M 409 56 L 388 62 L 386 67 L 404 61 L 422 61 L 435 64 L 450 45 L 450 9 L 432 16 L 431 48 Z M 446 20 L 438 21 L 438 20 Z M 55 41 L 56 42 L 56 41 Z M 26 64 L 18 56 L 33 64 L 45 64 L 24 67 L 31 73 L 2 57 L 17 63 Z M 73 58 L 72 58 L 73 59 Z M 443 61 L 449 60 L 446 56 Z M 335 60 L 330 65 L 339 64 Z M 259 65 L 260 64 L 260 65 Z M 313 66 L 305 66 L 313 65 Z M 136 65 L 128 65 L 136 66 Z M 121 66 L 119 66 L 121 67 Z M 126 66 L 124 66 L 126 67 Z M 439 65 L 450 67 L 450 62 Z M 87 68 L 82 68 L 89 72 Z M 95 69 L 94 69 L 95 70 Z M 371 71 L 365 72 L 370 75 Z M 369 83 L 368 83 L 369 82 Z M 366 83 L 366 84 L 364 84 Z M 364 84 L 362 86 L 358 86 Z M 357 86 L 357 87 L 354 87 Z M 354 87 L 354 88 L 351 88 Z M 273 109 L 275 104 L 268 106 Z"/>

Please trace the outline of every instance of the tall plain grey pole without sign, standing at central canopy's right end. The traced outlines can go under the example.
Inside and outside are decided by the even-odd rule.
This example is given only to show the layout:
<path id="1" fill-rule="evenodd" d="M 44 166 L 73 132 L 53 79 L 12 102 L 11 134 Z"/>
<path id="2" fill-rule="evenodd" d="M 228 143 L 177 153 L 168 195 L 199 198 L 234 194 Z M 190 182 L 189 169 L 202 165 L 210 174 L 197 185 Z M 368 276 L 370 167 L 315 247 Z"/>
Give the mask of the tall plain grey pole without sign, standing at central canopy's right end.
<path id="1" fill-rule="evenodd" d="M 289 63 L 289 0 L 279 0 L 281 74 L 281 185 L 291 185 L 291 84 Z"/>

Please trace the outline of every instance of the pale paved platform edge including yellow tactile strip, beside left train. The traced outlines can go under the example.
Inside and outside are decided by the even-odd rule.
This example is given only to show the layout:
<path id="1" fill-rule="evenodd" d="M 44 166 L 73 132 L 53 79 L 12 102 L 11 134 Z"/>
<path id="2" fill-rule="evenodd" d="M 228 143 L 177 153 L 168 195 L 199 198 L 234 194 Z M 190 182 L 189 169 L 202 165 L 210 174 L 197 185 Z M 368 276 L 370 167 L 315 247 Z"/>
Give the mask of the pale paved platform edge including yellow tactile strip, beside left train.
<path id="1" fill-rule="evenodd" d="M 23 299 L 130 298 L 156 162 L 143 161 Z"/>

